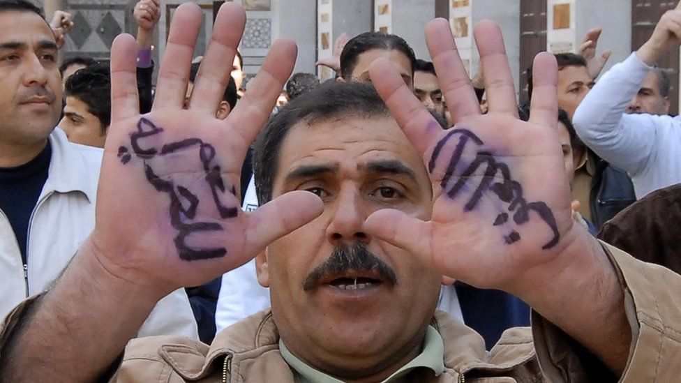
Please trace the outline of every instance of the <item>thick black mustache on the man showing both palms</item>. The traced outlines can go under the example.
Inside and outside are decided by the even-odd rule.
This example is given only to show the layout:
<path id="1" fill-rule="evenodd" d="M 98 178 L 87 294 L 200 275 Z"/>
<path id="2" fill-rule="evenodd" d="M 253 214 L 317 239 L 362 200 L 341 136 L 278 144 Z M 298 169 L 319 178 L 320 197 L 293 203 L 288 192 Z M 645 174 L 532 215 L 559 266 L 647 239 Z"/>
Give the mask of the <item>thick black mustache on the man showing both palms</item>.
<path id="1" fill-rule="evenodd" d="M 326 276 L 347 271 L 374 271 L 389 283 L 397 284 L 397 274 L 392 267 L 372 253 L 364 243 L 355 242 L 352 246 L 336 246 L 329 259 L 317 266 L 305 278 L 303 290 L 312 290 Z"/>

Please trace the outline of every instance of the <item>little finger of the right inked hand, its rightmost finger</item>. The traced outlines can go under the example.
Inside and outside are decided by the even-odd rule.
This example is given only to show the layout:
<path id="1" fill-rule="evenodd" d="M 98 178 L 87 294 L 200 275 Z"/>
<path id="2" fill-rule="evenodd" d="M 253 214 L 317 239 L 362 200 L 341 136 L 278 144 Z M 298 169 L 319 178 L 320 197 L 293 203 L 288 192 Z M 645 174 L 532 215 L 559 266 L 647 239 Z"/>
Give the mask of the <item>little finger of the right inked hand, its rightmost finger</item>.
<path id="1" fill-rule="evenodd" d="M 530 122 L 554 127 L 558 121 L 558 64 L 555 56 L 541 52 L 532 64 Z"/>

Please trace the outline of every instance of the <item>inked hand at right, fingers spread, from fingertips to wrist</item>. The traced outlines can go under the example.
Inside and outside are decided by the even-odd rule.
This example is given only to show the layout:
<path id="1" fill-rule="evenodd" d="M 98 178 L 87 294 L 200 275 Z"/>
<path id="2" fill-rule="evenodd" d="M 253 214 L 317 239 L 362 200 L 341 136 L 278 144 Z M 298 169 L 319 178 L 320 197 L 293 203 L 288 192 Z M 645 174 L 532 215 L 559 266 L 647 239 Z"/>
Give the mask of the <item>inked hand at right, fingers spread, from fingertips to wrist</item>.
<path id="1" fill-rule="evenodd" d="M 442 130 L 386 61 L 371 79 L 424 156 L 433 186 L 432 219 L 377 211 L 371 234 L 406 248 L 446 276 L 478 287 L 517 290 L 537 266 L 574 240 L 569 186 L 557 138 L 557 68 L 534 60 L 530 121 L 518 119 L 500 29 L 481 22 L 474 36 L 484 67 L 489 113 L 482 115 L 446 20 L 426 27 L 435 70 L 454 119 Z"/>

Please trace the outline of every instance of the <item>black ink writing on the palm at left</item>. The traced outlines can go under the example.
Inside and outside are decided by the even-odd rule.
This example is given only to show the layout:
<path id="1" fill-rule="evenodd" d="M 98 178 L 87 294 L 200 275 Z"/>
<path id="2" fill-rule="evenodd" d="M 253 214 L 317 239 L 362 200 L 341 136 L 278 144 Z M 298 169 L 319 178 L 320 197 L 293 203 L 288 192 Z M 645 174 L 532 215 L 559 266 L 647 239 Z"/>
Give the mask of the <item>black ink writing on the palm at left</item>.
<path id="1" fill-rule="evenodd" d="M 188 186 L 183 186 L 173 177 L 159 177 L 154 170 L 154 159 L 163 158 L 180 151 L 196 150 L 196 156 L 202 165 L 205 174 L 204 181 L 211 191 L 212 203 L 215 206 L 220 218 L 234 218 L 239 214 L 237 206 L 227 206 L 228 202 L 236 199 L 225 200 L 225 193 L 230 193 L 236 197 L 236 188 L 227 188 L 223 181 L 220 166 L 216 163 L 215 148 L 211 144 L 203 142 L 199 138 L 187 138 L 177 142 L 158 145 L 150 144 L 149 137 L 158 140 L 163 128 L 156 126 L 149 119 L 141 118 L 137 123 L 137 131 L 130 133 L 130 149 L 120 147 L 118 151 L 119 160 L 126 165 L 134 154 L 142 160 L 144 166 L 144 176 L 147 181 L 161 193 L 166 193 L 170 197 L 170 224 L 177 230 L 174 238 L 174 246 L 182 260 L 204 260 L 209 258 L 223 257 L 227 254 L 225 248 L 197 248 L 187 243 L 188 237 L 200 232 L 218 232 L 223 230 L 223 226 L 218 222 L 202 222 L 196 220 L 197 209 L 201 201 Z"/>

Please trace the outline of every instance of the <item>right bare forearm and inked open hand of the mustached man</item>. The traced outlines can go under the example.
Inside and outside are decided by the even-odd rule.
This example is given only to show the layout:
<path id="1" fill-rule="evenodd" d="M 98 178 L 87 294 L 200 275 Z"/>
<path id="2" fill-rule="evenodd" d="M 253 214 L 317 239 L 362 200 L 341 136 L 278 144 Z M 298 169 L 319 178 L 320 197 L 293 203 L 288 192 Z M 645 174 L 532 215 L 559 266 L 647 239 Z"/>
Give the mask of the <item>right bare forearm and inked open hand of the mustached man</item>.
<path id="1" fill-rule="evenodd" d="M 515 87 L 499 27 L 474 36 L 489 112 L 481 115 L 447 20 L 426 27 L 428 48 L 456 125 L 442 130 L 386 61 L 371 78 L 433 182 L 428 222 L 394 210 L 366 229 L 465 283 L 505 290 L 529 303 L 615 373 L 627 363 L 631 326 L 624 292 L 604 248 L 571 218 L 557 138 L 557 67 L 534 60 L 530 121 L 518 119 Z"/>

